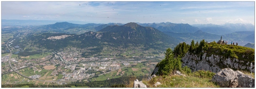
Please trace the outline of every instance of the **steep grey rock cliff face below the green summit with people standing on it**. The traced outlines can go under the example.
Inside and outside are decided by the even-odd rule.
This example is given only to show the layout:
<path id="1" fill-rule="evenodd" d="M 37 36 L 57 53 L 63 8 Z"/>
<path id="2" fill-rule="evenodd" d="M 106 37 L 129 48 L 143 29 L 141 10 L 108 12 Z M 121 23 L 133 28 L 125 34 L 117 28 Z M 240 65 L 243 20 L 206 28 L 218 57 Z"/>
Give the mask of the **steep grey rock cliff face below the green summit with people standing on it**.
<path id="1" fill-rule="evenodd" d="M 236 58 L 225 58 L 219 55 L 195 55 L 193 53 L 186 53 L 182 57 L 182 66 L 188 66 L 192 72 L 197 70 L 210 70 L 214 73 L 220 72 L 221 69 L 231 68 L 234 70 L 254 70 L 254 65 L 250 62 L 245 63 Z M 252 66 L 252 68 L 251 68 Z M 254 72 L 254 71 L 253 71 Z"/>

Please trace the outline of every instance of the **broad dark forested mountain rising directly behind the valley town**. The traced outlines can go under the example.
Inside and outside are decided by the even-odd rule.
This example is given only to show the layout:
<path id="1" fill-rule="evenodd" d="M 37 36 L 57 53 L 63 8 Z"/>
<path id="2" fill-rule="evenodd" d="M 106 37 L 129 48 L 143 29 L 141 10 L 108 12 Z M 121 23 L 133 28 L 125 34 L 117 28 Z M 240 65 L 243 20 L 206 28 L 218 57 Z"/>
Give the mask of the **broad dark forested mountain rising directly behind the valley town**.
<path id="1" fill-rule="evenodd" d="M 72 24 L 77 25 L 77 24 Z M 69 24 L 67 23 L 67 26 Z M 48 39 L 51 36 L 69 35 L 65 39 Z M 165 50 L 178 44 L 178 40 L 164 34 L 163 32 L 152 28 L 143 27 L 136 23 L 127 23 L 125 25 L 110 25 L 98 32 L 85 32 L 76 34 L 54 34 L 40 33 L 29 35 L 26 40 L 32 40 L 33 44 L 40 45 L 43 48 L 58 50 L 68 46 L 78 48 L 95 47 L 106 45 L 113 47 L 130 47 L 131 45 L 143 45 L 145 49 Z"/>

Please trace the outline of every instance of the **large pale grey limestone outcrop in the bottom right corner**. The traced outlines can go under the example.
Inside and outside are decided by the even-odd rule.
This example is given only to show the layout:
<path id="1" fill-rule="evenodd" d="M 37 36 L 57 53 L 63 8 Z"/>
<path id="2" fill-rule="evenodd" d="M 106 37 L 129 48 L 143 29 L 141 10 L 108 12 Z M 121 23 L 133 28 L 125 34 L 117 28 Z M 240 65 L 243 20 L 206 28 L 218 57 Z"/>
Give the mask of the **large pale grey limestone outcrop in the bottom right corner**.
<path id="1" fill-rule="evenodd" d="M 255 85 L 254 78 L 230 68 L 222 69 L 216 73 L 211 81 L 217 82 L 221 87 L 254 87 Z"/>

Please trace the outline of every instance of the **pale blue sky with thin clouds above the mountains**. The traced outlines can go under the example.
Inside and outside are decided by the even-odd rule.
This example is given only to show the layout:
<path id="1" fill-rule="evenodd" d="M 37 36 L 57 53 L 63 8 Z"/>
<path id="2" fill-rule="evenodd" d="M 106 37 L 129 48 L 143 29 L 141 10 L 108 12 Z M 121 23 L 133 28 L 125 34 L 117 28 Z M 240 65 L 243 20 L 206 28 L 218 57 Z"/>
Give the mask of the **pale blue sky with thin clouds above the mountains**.
<path id="1" fill-rule="evenodd" d="M 87 23 L 254 24 L 255 4 L 239 1 L 19 1 L 1 2 L 1 19 Z"/>

